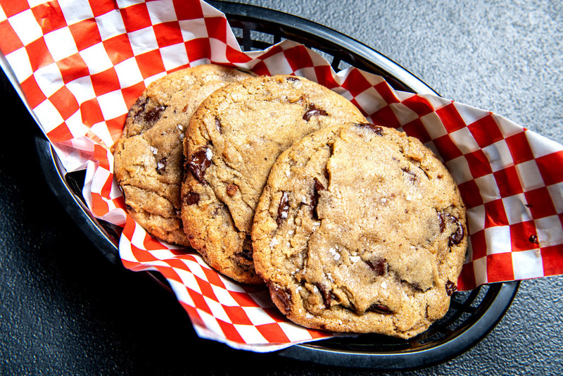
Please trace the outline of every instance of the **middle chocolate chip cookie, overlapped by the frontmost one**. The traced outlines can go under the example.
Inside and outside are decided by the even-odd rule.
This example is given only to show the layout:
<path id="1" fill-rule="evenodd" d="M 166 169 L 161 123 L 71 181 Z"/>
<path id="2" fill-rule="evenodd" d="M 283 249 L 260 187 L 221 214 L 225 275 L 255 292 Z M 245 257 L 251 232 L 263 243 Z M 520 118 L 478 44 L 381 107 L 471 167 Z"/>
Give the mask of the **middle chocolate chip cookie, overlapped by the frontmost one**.
<path id="1" fill-rule="evenodd" d="M 365 121 L 348 99 L 290 75 L 254 77 L 211 94 L 186 130 L 182 220 L 213 268 L 245 283 L 255 274 L 254 209 L 277 156 L 305 134 Z"/>

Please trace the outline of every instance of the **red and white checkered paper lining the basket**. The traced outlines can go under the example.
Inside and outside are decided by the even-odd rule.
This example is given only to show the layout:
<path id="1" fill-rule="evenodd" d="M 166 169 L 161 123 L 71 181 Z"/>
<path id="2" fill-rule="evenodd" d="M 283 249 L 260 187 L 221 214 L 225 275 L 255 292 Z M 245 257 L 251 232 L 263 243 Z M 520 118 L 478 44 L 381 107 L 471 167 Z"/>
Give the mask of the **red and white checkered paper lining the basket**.
<path id="1" fill-rule="evenodd" d="M 468 209 L 460 290 L 563 274 L 563 146 L 499 115 L 398 92 L 355 68 L 335 73 L 296 42 L 244 53 L 224 15 L 199 0 L 0 0 L 0 35 L 4 69 L 63 165 L 87 169 L 91 212 L 123 227 L 123 265 L 160 272 L 201 337 L 273 351 L 331 336 L 293 325 L 265 287 L 222 277 L 193 250 L 150 237 L 124 210 L 109 148 L 127 109 L 150 82 L 201 63 L 307 77 L 441 156 Z"/>

